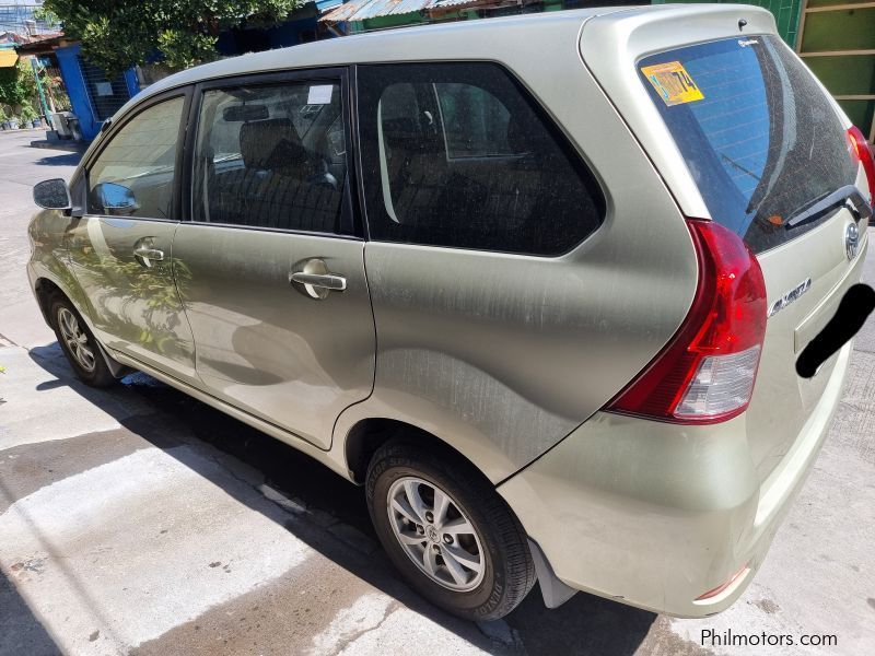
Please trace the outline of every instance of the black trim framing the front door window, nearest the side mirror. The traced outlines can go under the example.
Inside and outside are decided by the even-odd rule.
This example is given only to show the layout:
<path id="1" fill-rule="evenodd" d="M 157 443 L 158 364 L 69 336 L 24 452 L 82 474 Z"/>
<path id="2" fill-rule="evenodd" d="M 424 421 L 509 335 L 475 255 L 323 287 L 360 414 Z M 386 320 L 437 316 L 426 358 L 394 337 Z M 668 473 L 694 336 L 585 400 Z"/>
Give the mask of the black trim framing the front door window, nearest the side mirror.
<path id="1" fill-rule="evenodd" d="M 180 221 L 180 212 L 182 212 L 182 198 L 180 198 L 180 187 L 179 184 L 182 181 L 182 165 L 184 162 L 184 154 L 185 154 L 185 140 L 186 140 L 186 130 L 189 117 L 189 109 L 191 105 L 192 98 L 192 90 L 194 85 L 187 86 L 177 86 L 175 89 L 170 89 L 163 93 L 155 94 L 154 96 L 150 96 L 139 104 L 135 105 L 130 109 L 128 109 L 124 116 L 121 116 L 118 120 L 110 120 L 109 128 L 102 132 L 98 137 L 100 142 L 97 143 L 97 148 L 88 155 L 86 160 L 82 162 L 81 171 L 82 171 L 82 179 L 84 180 L 84 207 L 82 214 L 84 216 L 106 216 L 109 219 L 126 219 L 130 221 L 156 221 L 159 223 L 178 223 Z M 171 189 L 171 213 L 172 218 L 161 219 L 158 216 L 114 216 L 112 214 L 98 214 L 92 213 L 89 207 L 89 200 L 91 196 L 91 167 L 94 162 L 103 154 L 106 148 L 112 143 L 113 139 L 116 138 L 118 132 L 128 125 L 131 120 L 133 120 L 137 116 L 159 105 L 166 101 L 172 101 L 174 98 L 183 98 L 183 110 L 179 115 L 179 129 L 176 134 L 176 157 L 174 160 L 174 175 L 173 175 L 173 187 Z M 74 178 L 77 176 L 73 176 Z"/>

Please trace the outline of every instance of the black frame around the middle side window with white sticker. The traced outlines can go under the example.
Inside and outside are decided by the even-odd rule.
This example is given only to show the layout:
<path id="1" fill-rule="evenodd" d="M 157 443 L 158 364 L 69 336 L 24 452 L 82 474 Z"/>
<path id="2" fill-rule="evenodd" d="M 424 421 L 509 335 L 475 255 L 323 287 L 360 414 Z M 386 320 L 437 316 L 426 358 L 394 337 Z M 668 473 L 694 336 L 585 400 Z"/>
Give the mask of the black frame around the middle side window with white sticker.
<path id="1" fill-rule="evenodd" d="M 197 149 L 198 129 L 200 128 L 200 109 L 203 103 L 203 94 L 207 91 L 223 90 L 238 86 L 265 86 L 282 84 L 283 82 L 307 82 L 318 80 L 330 80 L 339 83 L 340 86 L 340 108 L 343 118 L 343 139 L 347 144 L 347 175 L 343 183 L 342 197 L 340 200 L 340 232 L 325 233 L 303 230 L 291 230 L 284 227 L 271 227 L 264 225 L 241 225 L 237 223 L 218 223 L 212 221 L 194 220 L 194 183 L 195 183 L 195 150 Z M 315 67 L 306 69 L 290 69 L 284 71 L 269 71 L 262 73 L 243 73 L 240 75 L 228 75 L 211 80 L 201 80 L 192 85 L 191 102 L 188 108 L 188 130 L 185 137 L 185 159 L 183 162 L 182 184 L 182 220 L 192 225 L 210 225 L 217 227 L 233 227 L 237 230 L 254 230 L 260 232 L 275 232 L 280 234 L 335 237 L 341 239 L 362 241 L 363 220 L 358 211 L 357 201 L 353 198 L 354 189 L 358 187 L 358 175 L 355 175 L 353 163 L 357 160 L 353 149 L 351 129 L 351 92 L 349 84 L 348 66 Z"/>

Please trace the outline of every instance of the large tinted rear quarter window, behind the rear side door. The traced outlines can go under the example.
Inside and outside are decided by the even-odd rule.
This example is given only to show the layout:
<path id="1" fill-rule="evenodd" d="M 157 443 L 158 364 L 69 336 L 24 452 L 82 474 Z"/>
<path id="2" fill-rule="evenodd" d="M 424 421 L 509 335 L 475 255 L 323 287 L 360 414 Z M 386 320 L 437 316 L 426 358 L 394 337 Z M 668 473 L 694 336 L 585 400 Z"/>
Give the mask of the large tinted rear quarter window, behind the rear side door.
<path id="1" fill-rule="evenodd" d="M 359 69 L 371 237 L 533 255 L 598 227 L 590 172 L 499 66 Z"/>

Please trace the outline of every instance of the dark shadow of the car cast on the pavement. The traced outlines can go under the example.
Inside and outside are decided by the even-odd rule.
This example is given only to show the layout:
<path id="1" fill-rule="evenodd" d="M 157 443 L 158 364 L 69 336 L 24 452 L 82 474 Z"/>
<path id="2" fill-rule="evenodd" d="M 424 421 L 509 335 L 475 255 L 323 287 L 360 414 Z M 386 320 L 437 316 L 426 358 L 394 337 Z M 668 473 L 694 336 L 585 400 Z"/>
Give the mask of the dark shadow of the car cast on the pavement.
<path id="1" fill-rule="evenodd" d="M 540 590 L 535 586 L 504 622 L 492 622 L 475 631 L 470 623 L 453 618 L 422 600 L 395 574 L 377 544 L 361 488 L 347 482 L 293 447 L 144 374 L 129 376 L 120 385 L 107 389 L 93 389 L 73 377 L 57 344 L 32 349 L 31 358 L 56 378 L 37 386 L 37 393 L 69 386 L 114 415 L 122 426 L 184 461 L 187 467 L 222 487 L 253 509 L 265 514 L 265 504 L 253 504 L 252 494 L 244 497 L 240 494 L 238 484 L 229 485 L 228 481 L 238 483 L 238 479 L 228 476 L 220 478 L 214 467 L 199 465 L 207 462 L 207 459 L 183 459 L 177 454 L 185 449 L 173 447 L 187 444 L 196 452 L 218 449 L 225 456 L 223 465 L 236 467 L 242 464 L 244 468 L 250 468 L 264 477 L 266 484 L 300 502 L 311 514 L 331 516 L 338 523 L 354 528 L 358 535 L 370 540 L 371 547 L 366 552 L 350 549 L 337 539 L 336 531 L 326 530 L 316 523 L 310 526 L 301 522 L 285 523 L 285 528 L 296 538 L 326 558 L 486 651 L 497 654 L 631 655 L 656 620 L 657 616 L 652 612 L 584 593 L 579 593 L 558 609 L 548 610 L 544 607 Z M 154 414 L 129 415 L 121 411 L 132 402 L 143 405 L 143 401 L 154 409 Z M 168 440 L 170 435 L 173 435 L 172 440 Z M 276 520 L 276 516 L 270 518 Z"/>

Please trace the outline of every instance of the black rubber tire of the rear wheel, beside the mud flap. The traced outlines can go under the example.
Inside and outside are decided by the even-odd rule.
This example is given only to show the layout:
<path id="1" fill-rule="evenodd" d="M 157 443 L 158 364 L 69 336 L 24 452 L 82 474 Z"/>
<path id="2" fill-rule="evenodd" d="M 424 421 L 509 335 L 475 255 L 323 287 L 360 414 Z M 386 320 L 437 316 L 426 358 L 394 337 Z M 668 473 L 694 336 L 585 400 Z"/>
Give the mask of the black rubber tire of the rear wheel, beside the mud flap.
<path id="1" fill-rule="evenodd" d="M 408 549 L 412 547 L 405 548 L 400 538 L 396 537 L 393 528 L 395 520 L 389 516 L 388 495 L 396 482 L 402 485 L 400 480 L 409 480 L 409 477 L 438 487 L 452 499 L 460 514 L 467 515 L 467 520 L 477 532 L 478 547 L 482 547 L 477 551 L 481 552 L 480 563 L 485 569 L 482 579 L 472 589 L 447 589 L 433 581 L 415 564 L 415 557 L 408 555 Z M 428 485 L 417 489 L 423 490 L 423 494 L 429 490 Z M 371 520 L 393 564 L 410 586 L 435 606 L 466 620 L 497 620 L 511 612 L 535 584 L 535 565 L 518 519 L 489 481 L 462 458 L 452 454 L 435 454 L 411 442 L 390 441 L 377 449 L 371 459 L 365 493 Z M 453 509 L 451 506 L 447 516 Z M 406 526 L 419 535 L 412 522 Z M 431 547 L 436 553 L 442 553 L 441 549 L 446 548 L 440 538 L 436 542 L 429 542 L 424 538 L 423 534 L 424 550 Z M 443 538 L 447 539 L 446 536 Z M 465 537 L 457 536 L 457 539 L 459 544 L 456 547 L 462 547 Z M 467 539 L 472 541 L 471 537 Z M 443 558 L 440 557 L 435 562 L 443 563 Z M 446 565 L 439 566 L 446 569 Z M 475 575 L 472 572 L 470 574 L 470 585 L 474 585 Z"/>

